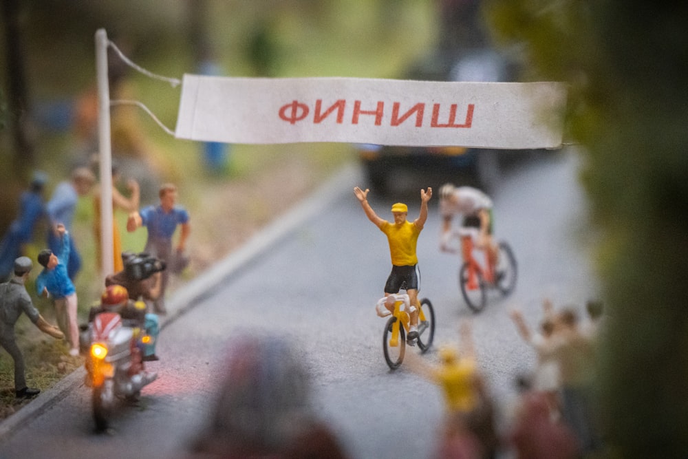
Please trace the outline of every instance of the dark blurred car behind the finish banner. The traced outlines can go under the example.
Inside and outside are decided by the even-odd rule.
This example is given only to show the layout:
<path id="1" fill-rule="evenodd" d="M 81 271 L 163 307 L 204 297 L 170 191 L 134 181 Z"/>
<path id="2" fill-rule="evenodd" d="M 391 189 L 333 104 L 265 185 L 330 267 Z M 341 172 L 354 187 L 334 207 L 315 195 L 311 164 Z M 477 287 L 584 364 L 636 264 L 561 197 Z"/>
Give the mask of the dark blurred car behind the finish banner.
<path id="1" fill-rule="evenodd" d="M 459 56 L 434 54 L 413 65 L 402 78 L 419 81 L 517 81 L 517 61 L 490 47 Z M 509 164 L 532 151 L 451 147 L 358 145 L 369 186 L 385 194 L 444 182 L 471 184 L 490 192 Z M 410 183 L 409 183 L 410 182 Z M 416 186 L 417 182 L 417 186 Z"/>

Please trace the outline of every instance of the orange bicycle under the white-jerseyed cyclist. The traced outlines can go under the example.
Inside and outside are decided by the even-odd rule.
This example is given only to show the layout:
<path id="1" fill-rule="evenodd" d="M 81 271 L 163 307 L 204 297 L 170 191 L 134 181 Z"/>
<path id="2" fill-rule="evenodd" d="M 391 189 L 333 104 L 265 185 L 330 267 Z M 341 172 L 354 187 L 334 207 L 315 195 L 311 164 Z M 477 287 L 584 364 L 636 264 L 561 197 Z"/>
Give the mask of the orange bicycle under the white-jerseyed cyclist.
<path id="1" fill-rule="evenodd" d="M 457 234 L 461 239 L 461 253 L 464 257 L 459 270 L 461 294 L 473 312 L 480 312 L 487 304 L 488 290 L 498 290 L 502 296 L 513 292 L 517 277 L 516 258 L 509 244 L 500 241 L 497 244 L 499 253 L 496 266 L 492 266 L 486 250 L 485 262 L 481 264 L 473 255 L 475 233 L 471 228 L 461 228 Z"/>

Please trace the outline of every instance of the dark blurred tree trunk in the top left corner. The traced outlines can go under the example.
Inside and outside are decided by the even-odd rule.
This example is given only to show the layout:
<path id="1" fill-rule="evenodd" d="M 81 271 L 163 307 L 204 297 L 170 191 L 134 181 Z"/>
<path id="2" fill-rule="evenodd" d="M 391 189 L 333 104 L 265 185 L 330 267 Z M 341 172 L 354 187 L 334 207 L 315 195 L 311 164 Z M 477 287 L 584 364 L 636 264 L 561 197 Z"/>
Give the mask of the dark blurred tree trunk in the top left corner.
<path id="1" fill-rule="evenodd" d="M 2 1 L 8 81 L 8 124 L 14 139 L 14 170 L 25 177 L 34 165 L 34 142 L 30 132 L 30 104 L 25 75 L 21 34 L 20 0 Z"/>

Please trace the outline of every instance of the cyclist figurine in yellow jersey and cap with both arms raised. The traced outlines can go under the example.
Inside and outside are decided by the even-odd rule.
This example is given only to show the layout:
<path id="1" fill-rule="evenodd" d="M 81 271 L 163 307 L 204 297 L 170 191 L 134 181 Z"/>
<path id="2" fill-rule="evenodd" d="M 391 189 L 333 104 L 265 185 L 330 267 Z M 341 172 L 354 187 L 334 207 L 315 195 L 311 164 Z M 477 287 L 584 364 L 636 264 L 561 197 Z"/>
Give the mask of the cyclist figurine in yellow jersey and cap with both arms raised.
<path id="1" fill-rule="evenodd" d="M 361 207 L 363 207 L 368 220 L 373 222 L 375 226 L 380 228 L 380 231 L 387 235 L 387 241 L 389 242 L 392 268 L 385 284 L 385 297 L 392 293 L 397 293 L 402 285 L 406 284 L 406 292 L 409 295 L 411 306 L 416 307 L 410 314 L 411 321 L 407 343 L 409 345 L 416 345 L 416 340 L 418 339 L 418 310 L 420 309 L 420 303 L 418 302 L 418 273 L 416 272 L 416 265 L 418 264 L 416 243 L 418 242 L 418 235 L 420 235 L 420 231 L 422 231 L 427 220 L 428 201 L 432 198 L 432 189 L 420 190 L 420 215 L 412 223 L 406 220 L 409 213 L 407 205 L 400 202 L 391 207 L 391 213 L 394 215 L 393 223 L 378 217 L 370 204 L 368 204 L 368 192 L 368 189 L 363 191 L 358 186 L 354 188 L 354 195 L 361 202 Z"/>

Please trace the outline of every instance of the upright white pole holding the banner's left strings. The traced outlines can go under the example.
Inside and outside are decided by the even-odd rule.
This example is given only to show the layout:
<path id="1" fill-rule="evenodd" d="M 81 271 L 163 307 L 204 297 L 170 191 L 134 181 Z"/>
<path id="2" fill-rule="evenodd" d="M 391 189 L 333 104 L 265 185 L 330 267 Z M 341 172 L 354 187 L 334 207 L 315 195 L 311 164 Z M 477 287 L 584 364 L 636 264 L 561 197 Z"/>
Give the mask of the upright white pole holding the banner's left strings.
<path id="1" fill-rule="evenodd" d="M 100 253 L 102 286 L 113 273 L 112 255 L 112 159 L 110 145 L 110 89 L 107 80 L 107 34 L 96 31 L 96 74 L 98 77 L 98 145 L 100 146 Z"/>

